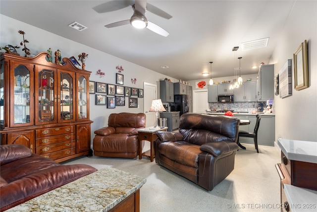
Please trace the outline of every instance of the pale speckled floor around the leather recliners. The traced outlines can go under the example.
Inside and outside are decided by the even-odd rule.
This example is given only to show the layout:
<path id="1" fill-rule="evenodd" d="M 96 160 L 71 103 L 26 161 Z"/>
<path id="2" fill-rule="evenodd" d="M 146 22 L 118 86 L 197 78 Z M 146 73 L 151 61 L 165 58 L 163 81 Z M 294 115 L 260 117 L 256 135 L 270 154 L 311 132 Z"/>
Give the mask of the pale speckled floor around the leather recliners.
<path id="1" fill-rule="evenodd" d="M 139 159 L 81 157 L 63 164 L 89 164 L 97 169 L 111 166 L 147 179 L 140 189 L 141 212 L 280 212 L 280 180 L 275 164 L 277 147 L 243 143 L 235 168 L 212 191 L 159 166 L 148 157 Z M 148 146 L 145 146 L 145 149 Z"/>

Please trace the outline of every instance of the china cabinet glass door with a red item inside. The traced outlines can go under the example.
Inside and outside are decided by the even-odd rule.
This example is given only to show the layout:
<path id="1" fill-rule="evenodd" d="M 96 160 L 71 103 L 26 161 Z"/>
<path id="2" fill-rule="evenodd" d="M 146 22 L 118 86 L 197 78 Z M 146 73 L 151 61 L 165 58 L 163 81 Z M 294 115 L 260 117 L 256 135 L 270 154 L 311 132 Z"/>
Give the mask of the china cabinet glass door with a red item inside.
<path id="1" fill-rule="evenodd" d="M 35 123 L 49 124 L 56 123 L 56 70 L 47 67 L 36 67 L 36 84 L 39 91 L 36 93 Z"/>

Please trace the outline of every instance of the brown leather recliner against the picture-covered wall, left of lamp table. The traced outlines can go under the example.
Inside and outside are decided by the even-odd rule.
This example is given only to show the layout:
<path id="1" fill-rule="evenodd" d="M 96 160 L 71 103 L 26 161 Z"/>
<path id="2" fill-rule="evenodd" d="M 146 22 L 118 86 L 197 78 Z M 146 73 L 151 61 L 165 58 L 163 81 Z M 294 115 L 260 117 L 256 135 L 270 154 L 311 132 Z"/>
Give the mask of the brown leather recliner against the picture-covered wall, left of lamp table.
<path id="1" fill-rule="evenodd" d="M 145 128 L 144 113 L 112 113 L 108 126 L 95 131 L 94 155 L 102 157 L 136 158 L 138 132 Z"/>

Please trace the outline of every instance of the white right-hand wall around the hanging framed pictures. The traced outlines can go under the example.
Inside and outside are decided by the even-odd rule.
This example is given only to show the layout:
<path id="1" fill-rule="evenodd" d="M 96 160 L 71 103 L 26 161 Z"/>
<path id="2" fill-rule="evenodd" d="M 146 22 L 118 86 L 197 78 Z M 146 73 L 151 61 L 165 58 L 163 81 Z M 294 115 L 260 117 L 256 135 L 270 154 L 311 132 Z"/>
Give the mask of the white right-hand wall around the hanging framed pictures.
<path id="1" fill-rule="evenodd" d="M 309 88 L 294 89 L 292 67 L 292 95 L 275 98 L 275 141 L 278 138 L 317 141 L 317 1 L 296 1 L 270 64 L 279 72 L 299 45 L 308 42 Z"/>

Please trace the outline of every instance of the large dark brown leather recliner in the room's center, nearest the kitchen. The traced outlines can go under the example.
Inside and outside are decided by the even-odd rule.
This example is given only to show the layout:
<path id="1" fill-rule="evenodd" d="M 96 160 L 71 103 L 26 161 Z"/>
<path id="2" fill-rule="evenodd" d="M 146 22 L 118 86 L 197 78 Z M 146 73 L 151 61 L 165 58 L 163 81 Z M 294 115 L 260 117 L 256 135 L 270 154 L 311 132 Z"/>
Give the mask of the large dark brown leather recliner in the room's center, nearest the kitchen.
<path id="1" fill-rule="evenodd" d="M 183 114 L 179 132 L 158 132 L 155 161 L 211 191 L 234 168 L 240 120 Z"/>

